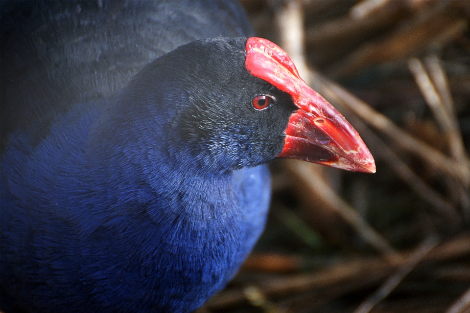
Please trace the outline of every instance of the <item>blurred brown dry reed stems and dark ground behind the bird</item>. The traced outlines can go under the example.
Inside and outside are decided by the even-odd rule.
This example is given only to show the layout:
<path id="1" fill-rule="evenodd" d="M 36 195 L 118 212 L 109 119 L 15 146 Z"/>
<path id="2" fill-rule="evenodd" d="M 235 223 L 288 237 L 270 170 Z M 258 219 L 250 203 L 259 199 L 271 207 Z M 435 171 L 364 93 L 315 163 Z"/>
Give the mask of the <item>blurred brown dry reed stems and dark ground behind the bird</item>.
<path id="1" fill-rule="evenodd" d="M 469 313 L 470 1 L 242 4 L 377 172 L 274 162 L 263 236 L 198 313 Z"/>

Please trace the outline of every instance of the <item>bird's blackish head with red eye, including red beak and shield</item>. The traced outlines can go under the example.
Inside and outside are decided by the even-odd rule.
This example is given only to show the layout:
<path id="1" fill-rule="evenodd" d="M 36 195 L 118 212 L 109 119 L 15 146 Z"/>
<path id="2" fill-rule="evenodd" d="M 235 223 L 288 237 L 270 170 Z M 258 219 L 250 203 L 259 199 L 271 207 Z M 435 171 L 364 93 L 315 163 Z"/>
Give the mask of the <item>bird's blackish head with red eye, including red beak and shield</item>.
<path id="1" fill-rule="evenodd" d="M 137 77 L 143 85 L 160 86 L 155 102 L 161 104 L 158 114 L 168 119 L 166 149 L 174 159 L 184 155 L 203 171 L 282 157 L 375 172 L 374 158 L 351 124 L 268 40 L 195 41 L 142 72 Z"/>

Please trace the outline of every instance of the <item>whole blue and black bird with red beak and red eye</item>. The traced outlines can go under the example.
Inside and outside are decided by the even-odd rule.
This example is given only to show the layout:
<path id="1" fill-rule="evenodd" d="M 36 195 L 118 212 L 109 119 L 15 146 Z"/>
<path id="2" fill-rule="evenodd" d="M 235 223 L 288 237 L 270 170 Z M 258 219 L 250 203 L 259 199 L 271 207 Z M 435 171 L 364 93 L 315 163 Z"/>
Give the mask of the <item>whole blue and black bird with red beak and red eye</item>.
<path id="1" fill-rule="evenodd" d="M 260 236 L 269 162 L 375 172 L 237 2 L 0 11 L 2 312 L 192 312 Z"/>

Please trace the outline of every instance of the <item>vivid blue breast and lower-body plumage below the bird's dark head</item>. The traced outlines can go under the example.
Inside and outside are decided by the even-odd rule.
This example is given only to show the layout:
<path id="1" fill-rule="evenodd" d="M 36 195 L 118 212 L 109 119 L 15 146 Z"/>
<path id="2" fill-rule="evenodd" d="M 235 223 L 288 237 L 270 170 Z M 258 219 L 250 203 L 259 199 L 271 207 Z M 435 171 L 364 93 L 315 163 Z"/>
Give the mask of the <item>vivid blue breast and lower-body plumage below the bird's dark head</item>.
<path id="1" fill-rule="evenodd" d="M 99 110 L 91 111 L 60 118 L 51 127 L 60 135 L 29 156 L 15 148 L 4 156 L 2 288 L 32 312 L 197 308 L 235 274 L 262 231 L 266 168 L 178 184 L 166 177 L 179 173 L 160 167 L 152 190 L 133 181 L 133 170 L 119 179 L 87 161 L 84 134 Z"/>

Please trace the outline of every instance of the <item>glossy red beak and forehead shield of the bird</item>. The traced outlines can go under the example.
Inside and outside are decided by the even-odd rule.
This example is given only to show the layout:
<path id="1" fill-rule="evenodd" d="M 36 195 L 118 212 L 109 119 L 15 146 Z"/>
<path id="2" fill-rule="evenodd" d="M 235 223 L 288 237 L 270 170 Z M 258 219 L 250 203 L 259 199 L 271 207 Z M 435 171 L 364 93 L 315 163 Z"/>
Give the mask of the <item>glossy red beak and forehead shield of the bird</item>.
<path id="1" fill-rule="evenodd" d="M 245 67 L 252 75 L 289 93 L 299 108 L 290 116 L 284 149 L 278 157 L 376 172 L 374 157 L 357 131 L 300 78 L 292 60 L 278 45 L 262 38 L 248 38 Z"/>

